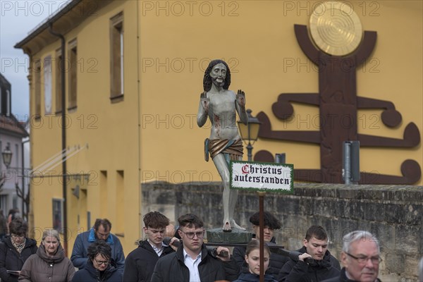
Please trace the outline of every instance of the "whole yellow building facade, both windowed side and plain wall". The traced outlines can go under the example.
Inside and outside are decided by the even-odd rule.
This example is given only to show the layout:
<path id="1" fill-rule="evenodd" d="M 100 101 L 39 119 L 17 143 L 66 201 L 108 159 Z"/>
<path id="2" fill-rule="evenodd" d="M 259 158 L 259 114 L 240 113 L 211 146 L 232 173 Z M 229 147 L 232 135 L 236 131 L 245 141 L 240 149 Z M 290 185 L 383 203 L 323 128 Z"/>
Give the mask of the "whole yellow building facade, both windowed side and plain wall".
<path id="1" fill-rule="evenodd" d="M 348 1 L 376 47 L 357 68 L 357 95 L 393 102 L 403 122 L 387 128 L 381 110 L 359 110 L 358 132 L 403 138 L 423 131 L 421 1 Z M 231 68 L 252 114 L 271 113 L 281 93 L 317 92 L 319 71 L 295 38 L 321 1 L 71 1 L 17 47 L 30 56 L 31 207 L 35 231 L 61 219 L 61 124 L 66 123 L 68 253 L 75 236 L 108 218 L 125 255 L 142 236 L 141 185 L 151 181 L 220 181 L 204 161 L 210 123 L 198 128 L 204 70 L 212 59 Z M 61 116 L 61 39 L 66 109 Z M 319 130 L 319 109 L 294 105 L 275 130 Z M 319 168 L 317 145 L 259 139 L 254 150 L 286 153 L 295 168 Z M 246 159 L 246 155 L 245 158 Z M 423 167 L 413 148 L 364 148 L 361 171 L 401 176 L 400 164 Z M 44 163 L 49 166 L 41 166 Z M 38 171 L 36 168 L 40 168 Z M 41 169 L 43 168 L 43 169 Z M 417 185 L 422 185 L 422 179 Z M 78 186 L 78 187 L 77 187 Z M 77 197 L 78 196 L 78 197 Z M 154 209 L 154 207 L 151 207 Z M 172 219 L 174 220 L 174 219 Z M 37 234 L 37 233 L 36 233 Z"/>

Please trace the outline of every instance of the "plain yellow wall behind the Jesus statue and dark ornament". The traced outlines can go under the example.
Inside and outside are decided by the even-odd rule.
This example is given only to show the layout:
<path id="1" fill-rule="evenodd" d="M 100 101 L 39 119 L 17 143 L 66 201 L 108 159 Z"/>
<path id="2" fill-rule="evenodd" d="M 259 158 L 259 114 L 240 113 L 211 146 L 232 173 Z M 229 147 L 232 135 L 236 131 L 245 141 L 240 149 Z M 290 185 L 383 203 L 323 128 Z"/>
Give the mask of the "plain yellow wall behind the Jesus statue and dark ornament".
<path id="1" fill-rule="evenodd" d="M 253 115 L 265 111 L 274 130 L 318 130 L 314 119 L 319 113 L 317 107 L 295 104 L 295 116 L 300 116 L 293 123 L 283 124 L 271 113 L 271 105 L 282 92 L 318 91 L 317 68 L 302 53 L 293 25 L 307 25 L 312 8 L 321 2 L 226 1 L 223 16 L 221 1 L 196 3 L 192 16 L 188 5 L 184 6 L 185 13 L 178 16 L 181 10 L 176 2 L 140 4 L 140 60 L 147 63 L 141 68 L 144 180 L 149 180 L 151 171 L 158 171 L 161 178 L 166 178 L 168 173 L 170 181 L 179 179 L 176 178 L 179 171 L 183 171 L 185 180 L 190 175 L 200 176 L 200 173 L 207 176 L 210 171 L 213 180 L 220 180 L 214 165 L 203 161 L 203 140 L 208 137 L 209 130 L 197 128 L 195 123 L 202 92 L 202 70 L 207 66 L 207 62 L 199 66 L 202 59 L 224 58 L 229 66 L 236 63 L 233 70 L 237 72 L 232 73 L 230 88 L 243 89 L 247 108 L 252 109 Z M 392 130 L 381 123 L 381 111 L 358 111 L 359 133 L 402 138 L 405 126 L 414 122 L 422 134 L 422 3 L 350 3 L 354 4 L 364 30 L 378 32 L 373 54 L 357 69 L 357 94 L 391 101 L 403 116 L 403 123 Z M 208 11 L 206 4 L 213 8 L 210 16 L 203 16 Z M 229 13 L 233 9 L 236 15 Z M 185 62 L 182 71 L 180 61 Z M 287 65 L 292 61 L 295 66 Z M 160 98 L 154 99 L 157 96 Z M 162 99 L 166 99 L 166 103 L 161 102 Z M 169 116 L 168 124 L 149 123 L 152 117 L 157 121 L 159 118 L 164 120 L 166 115 Z M 184 126 L 178 128 L 181 116 L 185 117 Z M 171 148 L 150 149 L 158 144 Z M 320 165 L 318 145 L 259 140 L 254 147 L 254 152 L 260 149 L 274 154 L 285 152 L 286 161 L 295 168 L 319 168 Z M 412 149 L 363 147 L 360 159 L 362 171 L 400 176 L 400 164 L 405 159 L 415 159 L 422 166 L 422 146 Z"/>

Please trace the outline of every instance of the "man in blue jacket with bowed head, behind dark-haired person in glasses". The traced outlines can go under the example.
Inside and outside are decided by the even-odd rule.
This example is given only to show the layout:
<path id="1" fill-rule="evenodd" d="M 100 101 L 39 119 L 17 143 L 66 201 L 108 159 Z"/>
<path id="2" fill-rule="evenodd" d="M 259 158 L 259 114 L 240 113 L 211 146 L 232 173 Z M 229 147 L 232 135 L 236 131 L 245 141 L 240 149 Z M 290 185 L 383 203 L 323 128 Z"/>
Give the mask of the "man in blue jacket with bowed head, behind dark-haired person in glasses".
<path id="1" fill-rule="evenodd" d="M 118 271 L 123 274 L 125 267 L 125 255 L 121 241 L 116 235 L 111 234 L 111 222 L 109 219 L 96 219 L 90 231 L 78 234 L 73 244 L 71 261 L 73 266 L 83 269 L 87 262 L 88 247 L 99 240 L 105 241 L 111 247 L 112 264 L 116 264 Z"/>

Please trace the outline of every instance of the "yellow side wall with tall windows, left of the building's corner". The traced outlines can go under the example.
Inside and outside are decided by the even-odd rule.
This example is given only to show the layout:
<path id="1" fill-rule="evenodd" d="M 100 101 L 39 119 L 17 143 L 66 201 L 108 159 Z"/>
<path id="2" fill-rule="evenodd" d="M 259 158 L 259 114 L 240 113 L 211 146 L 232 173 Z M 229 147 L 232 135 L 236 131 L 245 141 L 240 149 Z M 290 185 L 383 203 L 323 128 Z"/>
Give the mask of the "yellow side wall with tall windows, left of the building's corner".
<path id="1" fill-rule="evenodd" d="M 74 185 L 68 185 L 69 254 L 75 236 L 87 231 L 87 212 L 91 212 L 91 225 L 96 218 L 108 218 L 112 223 L 113 233 L 125 233 L 129 237 L 128 240 L 126 237 L 121 238 L 126 254 L 133 250 L 133 243 L 140 236 L 137 65 L 133 59 L 137 56 L 135 4 L 135 1 L 110 4 L 65 35 L 66 42 L 74 38 L 78 40 L 78 107 L 66 112 L 66 142 L 68 147 L 85 147 L 68 159 L 67 169 L 69 173 L 90 173 L 91 176 L 90 181 L 81 186 L 79 200 L 72 195 L 71 188 Z M 109 99 L 109 18 L 120 11 L 125 15 L 125 97 L 124 102 L 112 104 Z M 54 57 L 55 50 L 59 47 L 59 42 L 56 42 L 33 57 Z M 53 105 L 56 80 L 54 73 L 53 71 Z M 67 89 L 66 85 L 66 91 Z M 44 116 L 42 104 L 42 118 L 32 124 L 33 167 L 61 151 L 61 127 L 58 125 L 60 119 L 60 115 L 49 118 Z M 47 126 L 46 120 L 53 125 Z M 55 173 L 49 174 L 61 174 L 61 164 L 53 170 Z M 51 197 L 62 197 L 61 181 L 53 178 L 49 183 L 44 178 L 42 183 L 32 185 L 32 191 L 35 228 L 51 227 Z"/>

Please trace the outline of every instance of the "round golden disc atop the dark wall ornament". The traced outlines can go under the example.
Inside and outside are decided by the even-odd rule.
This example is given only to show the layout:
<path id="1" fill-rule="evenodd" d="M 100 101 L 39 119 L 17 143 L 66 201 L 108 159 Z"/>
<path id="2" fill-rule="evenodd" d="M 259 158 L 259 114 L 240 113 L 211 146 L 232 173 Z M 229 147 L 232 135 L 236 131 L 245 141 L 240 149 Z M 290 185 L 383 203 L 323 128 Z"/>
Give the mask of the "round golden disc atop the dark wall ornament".
<path id="1" fill-rule="evenodd" d="M 333 56 L 353 53 L 363 37 L 360 18 L 354 8 L 340 1 L 317 5 L 310 16 L 309 27 L 314 44 Z"/>

